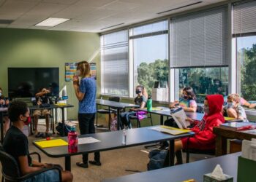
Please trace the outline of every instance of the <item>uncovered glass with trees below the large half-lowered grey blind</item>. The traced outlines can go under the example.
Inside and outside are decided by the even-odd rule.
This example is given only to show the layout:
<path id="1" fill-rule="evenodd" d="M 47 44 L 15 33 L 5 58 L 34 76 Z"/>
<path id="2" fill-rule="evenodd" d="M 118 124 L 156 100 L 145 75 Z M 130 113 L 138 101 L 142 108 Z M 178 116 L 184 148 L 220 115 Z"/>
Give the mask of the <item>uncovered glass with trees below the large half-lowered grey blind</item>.
<path id="1" fill-rule="evenodd" d="M 177 100 L 184 87 L 192 87 L 197 103 L 203 103 L 209 94 L 228 94 L 228 67 L 178 68 L 175 75 Z"/>

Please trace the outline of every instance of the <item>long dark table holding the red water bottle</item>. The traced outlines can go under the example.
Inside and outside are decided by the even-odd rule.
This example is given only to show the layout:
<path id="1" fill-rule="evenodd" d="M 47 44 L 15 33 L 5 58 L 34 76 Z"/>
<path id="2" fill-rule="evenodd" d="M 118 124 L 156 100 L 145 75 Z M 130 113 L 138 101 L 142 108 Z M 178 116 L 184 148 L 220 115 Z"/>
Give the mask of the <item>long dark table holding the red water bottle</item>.
<path id="1" fill-rule="evenodd" d="M 69 154 L 67 146 L 57 146 L 51 148 L 42 149 L 37 146 L 36 143 L 33 144 L 48 157 L 65 157 L 65 169 L 71 170 L 71 156 L 80 155 L 84 153 L 91 153 L 95 151 L 108 151 L 113 149 L 121 149 L 130 146 L 140 146 L 148 143 L 155 143 L 159 141 L 170 141 L 170 156 L 169 164 L 174 165 L 174 140 L 179 138 L 185 138 L 195 135 L 194 132 L 187 132 L 181 135 L 168 135 L 163 132 L 157 132 L 151 130 L 151 127 L 140 127 L 132 130 L 127 130 L 127 144 L 122 144 L 123 131 L 113 131 L 113 132 L 99 132 L 94 134 L 80 135 L 79 138 L 93 137 L 99 140 L 97 143 L 87 143 L 78 145 L 78 152 Z M 61 138 L 67 141 L 67 137 Z"/>

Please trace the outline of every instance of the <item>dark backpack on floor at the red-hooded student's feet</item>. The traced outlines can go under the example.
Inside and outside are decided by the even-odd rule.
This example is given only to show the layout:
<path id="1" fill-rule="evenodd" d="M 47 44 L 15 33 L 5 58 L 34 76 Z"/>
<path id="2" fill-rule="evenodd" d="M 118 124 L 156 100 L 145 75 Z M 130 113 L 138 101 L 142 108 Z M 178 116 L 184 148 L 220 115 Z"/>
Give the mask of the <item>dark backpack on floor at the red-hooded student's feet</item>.
<path id="1" fill-rule="evenodd" d="M 149 152 L 148 170 L 157 170 L 165 167 L 165 158 L 167 156 L 167 150 L 154 149 Z"/>

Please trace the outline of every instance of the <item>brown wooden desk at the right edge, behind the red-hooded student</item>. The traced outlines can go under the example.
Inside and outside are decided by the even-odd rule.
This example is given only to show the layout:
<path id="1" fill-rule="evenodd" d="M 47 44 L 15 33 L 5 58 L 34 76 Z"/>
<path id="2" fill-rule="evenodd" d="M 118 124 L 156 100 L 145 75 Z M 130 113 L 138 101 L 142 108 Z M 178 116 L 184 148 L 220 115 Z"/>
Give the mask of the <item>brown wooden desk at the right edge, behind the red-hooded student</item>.
<path id="1" fill-rule="evenodd" d="M 251 141 L 252 138 L 256 138 L 256 135 L 250 133 L 241 131 L 231 131 L 220 127 L 214 127 L 214 134 L 217 135 L 216 156 L 227 154 L 227 139 L 245 139 Z"/>

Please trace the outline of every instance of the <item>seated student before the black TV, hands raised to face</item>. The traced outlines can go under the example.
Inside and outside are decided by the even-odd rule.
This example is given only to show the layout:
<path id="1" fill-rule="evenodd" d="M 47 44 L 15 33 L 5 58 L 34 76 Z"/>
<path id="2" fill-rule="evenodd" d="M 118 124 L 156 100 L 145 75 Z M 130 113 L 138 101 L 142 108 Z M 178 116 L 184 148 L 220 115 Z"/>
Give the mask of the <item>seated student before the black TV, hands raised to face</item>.
<path id="1" fill-rule="evenodd" d="M 50 93 L 50 90 L 47 90 L 46 88 L 42 88 L 39 90 L 39 92 L 36 94 L 37 105 L 52 103 L 50 98 L 48 98 L 48 93 Z M 49 136 L 48 132 L 49 132 L 49 122 L 50 122 L 50 111 L 48 109 L 35 110 L 33 115 L 34 115 L 35 137 L 47 138 Z M 45 116 L 45 122 L 46 122 L 45 134 L 38 132 L 37 130 L 39 116 Z"/>

